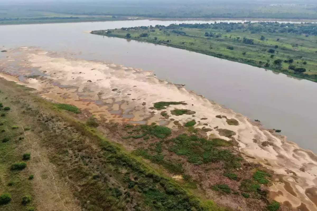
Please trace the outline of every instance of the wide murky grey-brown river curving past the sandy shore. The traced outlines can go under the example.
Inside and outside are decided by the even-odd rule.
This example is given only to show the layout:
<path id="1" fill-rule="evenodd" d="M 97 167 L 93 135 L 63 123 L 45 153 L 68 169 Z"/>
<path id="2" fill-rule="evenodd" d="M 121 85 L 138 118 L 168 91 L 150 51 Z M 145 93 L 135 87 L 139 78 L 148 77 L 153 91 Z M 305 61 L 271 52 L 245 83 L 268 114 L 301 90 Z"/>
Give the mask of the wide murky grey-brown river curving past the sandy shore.
<path id="1" fill-rule="evenodd" d="M 251 120 L 260 120 L 266 128 L 281 129 L 288 140 L 316 153 L 317 83 L 177 48 L 87 33 L 99 29 L 214 21 L 7 25 L 0 26 L 0 48 L 35 46 L 58 53 L 74 53 L 75 58 L 152 70 L 160 79 L 186 84 L 188 90 Z M 240 21 L 244 20 L 231 22 Z"/>

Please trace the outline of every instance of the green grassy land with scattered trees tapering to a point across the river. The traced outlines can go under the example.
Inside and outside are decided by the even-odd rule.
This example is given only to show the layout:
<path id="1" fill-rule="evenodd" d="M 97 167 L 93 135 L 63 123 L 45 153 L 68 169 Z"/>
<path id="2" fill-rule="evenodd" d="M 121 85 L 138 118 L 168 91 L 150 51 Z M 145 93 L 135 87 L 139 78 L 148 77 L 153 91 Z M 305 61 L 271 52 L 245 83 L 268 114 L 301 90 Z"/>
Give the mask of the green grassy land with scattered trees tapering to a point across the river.
<path id="1" fill-rule="evenodd" d="M 317 82 L 316 24 L 179 24 L 91 33 L 186 49 Z"/>

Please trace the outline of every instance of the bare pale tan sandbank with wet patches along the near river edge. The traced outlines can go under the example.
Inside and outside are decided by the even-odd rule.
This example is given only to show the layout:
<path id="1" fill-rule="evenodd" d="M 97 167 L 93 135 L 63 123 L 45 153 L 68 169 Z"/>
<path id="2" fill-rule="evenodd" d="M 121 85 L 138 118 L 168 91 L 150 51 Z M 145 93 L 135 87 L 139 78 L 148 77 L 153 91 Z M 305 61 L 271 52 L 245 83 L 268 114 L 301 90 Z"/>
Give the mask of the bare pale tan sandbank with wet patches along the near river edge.
<path id="1" fill-rule="evenodd" d="M 161 111 L 149 108 L 154 102 L 184 101 L 187 105 L 172 105 L 165 109 L 170 118 L 182 125 L 195 120 L 198 123 L 195 127 L 209 128 L 208 135 L 226 140 L 229 138 L 221 136 L 215 127 L 234 131 L 233 137 L 244 158 L 275 172 L 270 187 L 272 198 L 294 210 L 317 210 L 317 156 L 231 109 L 210 102 L 182 85 L 159 80 L 151 71 L 72 59 L 65 54 L 28 47 L 8 49 L 5 55 L 0 59 L 1 77 L 32 87 L 55 102 L 87 109 L 104 122 L 156 122 L 177 127 L 173 121 L 161 116 Z M 171 115 L 175 108 L 196 113 L 194 116 Z M 236 119 L 239 125 L 228 125 L 225 118 L 216 115 Z"/>

